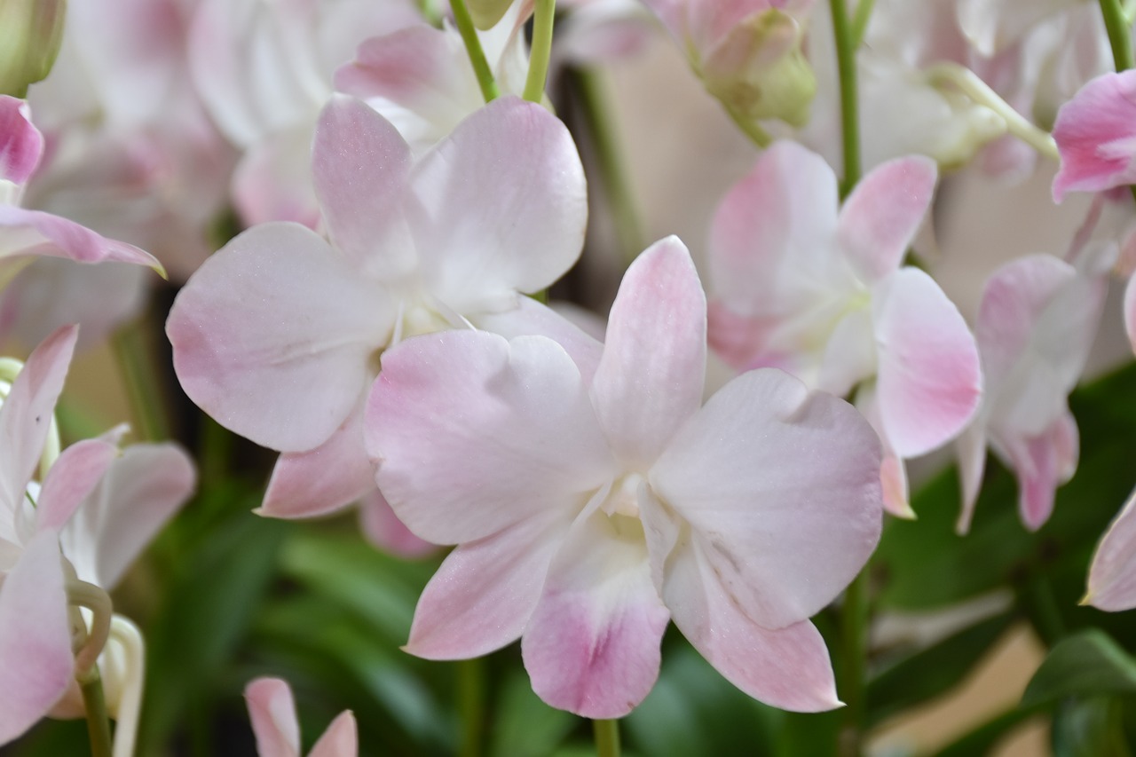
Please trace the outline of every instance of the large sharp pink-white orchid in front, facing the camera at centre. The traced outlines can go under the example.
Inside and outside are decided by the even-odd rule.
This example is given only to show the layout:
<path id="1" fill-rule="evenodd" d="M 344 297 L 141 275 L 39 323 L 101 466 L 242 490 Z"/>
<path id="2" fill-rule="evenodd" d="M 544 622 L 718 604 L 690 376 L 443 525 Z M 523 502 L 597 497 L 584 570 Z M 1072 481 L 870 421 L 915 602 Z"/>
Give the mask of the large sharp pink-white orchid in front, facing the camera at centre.
<path id="1" fill-rule="evenodd" d="M 607 343 L 449 331 L 383 356 L 367 406 L 377 482 L 419 536 L 458 544 L 407 650 L 521 639 L 544 701 L 619 717 L 670 618 L 746 693 L 837 706 L 808 618 L 880 531 L 879 447 L 849 405 L 754 371 L 702 406 L 705 297 L 686 248 L 628 269 Z"/>

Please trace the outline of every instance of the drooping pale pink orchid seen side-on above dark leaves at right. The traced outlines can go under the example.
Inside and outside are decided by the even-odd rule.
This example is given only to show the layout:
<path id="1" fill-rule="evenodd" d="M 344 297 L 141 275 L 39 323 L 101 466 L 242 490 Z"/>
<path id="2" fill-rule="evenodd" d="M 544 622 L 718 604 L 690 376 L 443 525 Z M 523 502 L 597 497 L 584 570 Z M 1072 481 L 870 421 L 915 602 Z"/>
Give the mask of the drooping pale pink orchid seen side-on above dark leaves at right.
<path id="1" fill-rule="evenodd" d="M 1078 269 L 1033 255 L 986 283 L 975 325 L 986 391 L 959 439 L 960 533 L 970 527 L 987 444 L 1016 473 L 1018 508 L 1030 531 L 1045 524 L 1056 488 L 1077 469 L 1077 422 L 1066 398 L 1085 368 L 1105 293 L 1091 257 Z"/>

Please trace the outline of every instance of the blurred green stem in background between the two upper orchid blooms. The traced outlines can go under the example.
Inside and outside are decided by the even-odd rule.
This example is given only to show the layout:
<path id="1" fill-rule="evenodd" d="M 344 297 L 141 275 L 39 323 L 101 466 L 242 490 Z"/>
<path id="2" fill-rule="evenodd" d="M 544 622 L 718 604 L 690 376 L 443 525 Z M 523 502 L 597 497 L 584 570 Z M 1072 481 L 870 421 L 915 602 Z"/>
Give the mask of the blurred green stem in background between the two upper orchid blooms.
<path id="1" fill-rule="evenodd" d="M 616 130 L 608 117 L 611 111 L 604 107 L 607 98 L 603 80 L 595 69 L 571 69 L 568 76 L 579 92 L 580 111 L 595 149 L 600 181 L 611 210 L 620 251 L 630 261 L 643 249 L 643 228 L 630 182 L 624 170 L 623 151 L 619 149 Z"/>

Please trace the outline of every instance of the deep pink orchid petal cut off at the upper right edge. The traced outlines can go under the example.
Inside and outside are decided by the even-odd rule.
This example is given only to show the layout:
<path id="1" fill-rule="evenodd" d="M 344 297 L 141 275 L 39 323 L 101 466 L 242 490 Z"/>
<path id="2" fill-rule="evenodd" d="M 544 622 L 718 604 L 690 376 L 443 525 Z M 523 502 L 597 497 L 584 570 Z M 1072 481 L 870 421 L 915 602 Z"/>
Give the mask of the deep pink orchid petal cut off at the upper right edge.
<path id="1" fill-rule="evenodd" d="M 1058 111 L 1053 200 L 1136 183 L 1136 70 L 1104 74 Z"/>

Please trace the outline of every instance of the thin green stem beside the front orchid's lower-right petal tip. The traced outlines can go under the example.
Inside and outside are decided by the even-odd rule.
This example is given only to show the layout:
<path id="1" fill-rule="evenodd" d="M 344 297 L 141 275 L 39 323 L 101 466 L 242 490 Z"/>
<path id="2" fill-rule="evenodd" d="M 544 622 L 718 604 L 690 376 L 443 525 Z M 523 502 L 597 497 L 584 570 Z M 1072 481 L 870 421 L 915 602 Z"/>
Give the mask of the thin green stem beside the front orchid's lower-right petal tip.
<path id="1" fill-rule="evenodd" d="M 857 757 L 863 751 L 864 693 L 868 671 L 868 566 L 844 590 L 841 606 L 841 698 L 844 725 L 838 754 Z"/>

